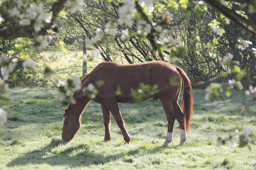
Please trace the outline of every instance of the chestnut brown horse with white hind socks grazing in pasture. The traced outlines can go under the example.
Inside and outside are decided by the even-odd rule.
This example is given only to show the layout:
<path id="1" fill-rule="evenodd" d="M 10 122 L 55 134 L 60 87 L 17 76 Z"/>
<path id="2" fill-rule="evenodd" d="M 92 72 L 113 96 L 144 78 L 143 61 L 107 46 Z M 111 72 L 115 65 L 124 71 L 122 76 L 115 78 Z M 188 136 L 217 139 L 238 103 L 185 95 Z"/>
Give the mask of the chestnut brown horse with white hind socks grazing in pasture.
<path id="1" fill-rule="evenodd" d="M 179 82 L 178 86 L 174 86 L 170 83 L 170 78 L 172 77 L 177 78 L 177 82 Z M 183 79 L 183 111 L 178 104 L 181 90 L 181 77 Z M 190 94 L 192 90 L 191 82 L 181 68 L 163 61 L 129 65 L 102 62 L 81 80 L 81 87 L 87 87 L 91 83 L 96 86 L 96 82 L 99 80 L 103 80 L 104 85 L 97 87 L 99 93 L 93 101 L 101 104 L 102 107 L 105 141 L 111 139 L 110 113 L 120 127 L 125 142 L 129 143 L 131 141 L 131 137 L 125 129 L 124 121 L 117 103 L 136 103 L 131 96 L 131 88 L 138 88 L 139 83 L 142 82 L 145 85 L 158 85 L 158 91 L 152 96 L 157 95 L 158 99 L 160 99 L 168 121 L 167 136 L 163 146 L 168 146 L 168 144 L 172 142 L 172 131 L 175 119 L 177 119 L 180 126 L 180 145 L 184 144 L 186 141 L 185 129 L 188 132 L 191 126 L 193 98 Z M 116 94 L 118 86 L 122 92 L 120 95 Z M 73 139 L 80 129 L 81 114 L 87 103 L 90 102 L 88 96 L 81 95 L 83 93 L 82 88 L 79 91 L 75 91 L 73 94 L 76 103 L 70 103 L 68 108 L 63 108 L 65 113 L 62 139 L 64 140 Z M 148 96 L 146 99 L 144 98 L 143 101 L 150 99 L 152 96 Z"/>

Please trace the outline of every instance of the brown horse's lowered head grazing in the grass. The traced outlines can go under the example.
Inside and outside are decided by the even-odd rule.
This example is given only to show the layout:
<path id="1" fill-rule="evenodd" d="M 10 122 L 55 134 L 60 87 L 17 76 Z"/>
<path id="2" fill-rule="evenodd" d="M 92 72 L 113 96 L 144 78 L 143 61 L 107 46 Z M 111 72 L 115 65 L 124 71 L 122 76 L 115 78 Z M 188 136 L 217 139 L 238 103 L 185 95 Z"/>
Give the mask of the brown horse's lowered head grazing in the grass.
<path id="1" fill-rule="evenodd" d="M 72 111 L 67 107 L 62 107 L 64 110 L 64 122 L 63 122 L 63 129 L 62 129 L 62 139 L 66 141 L 70 141 L 76 135 L 77 131 L 81 127 L 80 123 L 80 116 L 76 114 L 72 114 Z"/>

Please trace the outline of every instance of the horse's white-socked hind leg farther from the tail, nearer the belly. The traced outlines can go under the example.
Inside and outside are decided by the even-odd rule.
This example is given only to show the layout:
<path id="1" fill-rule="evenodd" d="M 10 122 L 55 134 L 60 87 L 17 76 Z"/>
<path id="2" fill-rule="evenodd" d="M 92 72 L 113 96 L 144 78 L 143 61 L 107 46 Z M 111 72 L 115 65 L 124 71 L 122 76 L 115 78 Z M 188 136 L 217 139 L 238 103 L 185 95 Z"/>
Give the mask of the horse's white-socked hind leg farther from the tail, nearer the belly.
<path id="1" fill-rule="evenodd" d="M 162 101 L 162 105 L 163 105 L 163 110 L 166 113 L 166 118 L 167 118 L 167 122 L 168 122 L 168 129 L 167 129 L 167 135 L 166 135 L 166 140 L 163 143 L 163 147 L 167 147 L 169 143 L 172 142 L 172 131 L 173 131 L 173 126 L 174 126 L 174 122 L 175 122 L 175 113 L 173 111 L 173 107 L 172 107 L 172 100 L 166 100 L 166 101 Z"/>

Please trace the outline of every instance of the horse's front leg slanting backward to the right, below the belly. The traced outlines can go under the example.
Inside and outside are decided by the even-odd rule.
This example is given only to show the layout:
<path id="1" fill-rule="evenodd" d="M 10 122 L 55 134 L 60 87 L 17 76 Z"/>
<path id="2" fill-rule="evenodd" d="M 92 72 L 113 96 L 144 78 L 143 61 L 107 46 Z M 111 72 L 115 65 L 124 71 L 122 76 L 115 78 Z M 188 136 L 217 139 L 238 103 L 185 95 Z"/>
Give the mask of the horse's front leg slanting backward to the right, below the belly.
<path id="1" fill-rule="evenodd" d="M 111 114 L 113 115 L 113 117 L 115 118 L 117 125 L 121 129 L 121 132 L 122 132 L 122 135 L 125 139 L 125 142 L 130 143 L 131 142 L 131 137 L 125 129 L 125 124 L 124 124 L 124 121 L 122 119 L 122 115 L 119 111 L 117 102 L 116 101 L 112 101 L 112 102 L 110 101 L 110 102 L 108 102 L 107 107 L 108 107 L 109 111 L 111 112 Z"/>

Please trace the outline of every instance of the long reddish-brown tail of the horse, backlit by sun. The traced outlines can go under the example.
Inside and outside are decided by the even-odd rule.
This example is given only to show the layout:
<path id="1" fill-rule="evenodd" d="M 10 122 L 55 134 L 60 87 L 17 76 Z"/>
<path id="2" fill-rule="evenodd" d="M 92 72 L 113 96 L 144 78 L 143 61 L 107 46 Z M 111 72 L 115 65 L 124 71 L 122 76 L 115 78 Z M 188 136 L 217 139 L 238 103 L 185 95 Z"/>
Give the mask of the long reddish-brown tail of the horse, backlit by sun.
<path id="1" fill-rule="evenodd" d="M 192 86 L 189 77 L 185 71 L 175 65 L 175 68 L 180 73 L 183 80 L 183 96 L 182 96 L 182 110 L 184 113 L 185 129 L 189 132 L 191 127 L 191 116 L 193 114 L 193 97 L 191 94 Z"/>

